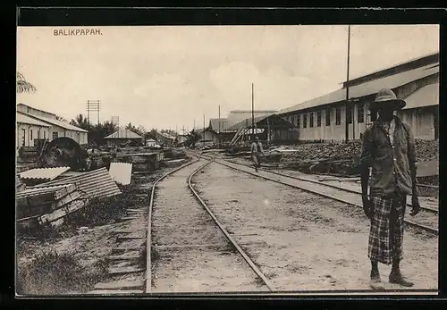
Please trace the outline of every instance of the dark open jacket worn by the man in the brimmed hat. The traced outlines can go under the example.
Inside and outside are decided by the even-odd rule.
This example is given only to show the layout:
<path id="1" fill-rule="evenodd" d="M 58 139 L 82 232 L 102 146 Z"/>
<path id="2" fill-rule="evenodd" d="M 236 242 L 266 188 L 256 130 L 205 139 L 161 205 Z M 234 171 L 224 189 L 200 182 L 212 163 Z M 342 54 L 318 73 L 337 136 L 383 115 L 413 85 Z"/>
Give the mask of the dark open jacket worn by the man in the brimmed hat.
<path id="1" fill-rule="evenodd" d="M 360 164 L 371 167 L 371 196 L 388 196 L 398 191 L 411 194 L 411 172 L 416 174 L 416 145 L 409 125 L 394 117 L 394 147 L 380 118 L 365 130 Z"/>

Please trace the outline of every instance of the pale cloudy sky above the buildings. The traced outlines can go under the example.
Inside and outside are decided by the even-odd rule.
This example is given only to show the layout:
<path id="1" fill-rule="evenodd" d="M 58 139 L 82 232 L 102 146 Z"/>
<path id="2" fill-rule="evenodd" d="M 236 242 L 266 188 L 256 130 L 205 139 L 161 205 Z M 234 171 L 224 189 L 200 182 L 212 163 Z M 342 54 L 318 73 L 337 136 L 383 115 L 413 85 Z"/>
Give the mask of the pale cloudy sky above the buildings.
<path id="1" fill-rule="evenodd" d="M 204 114 L 206 124 L 217 118 L 219 105 L 221 117 L 250 110 L 251 83 L 255 109 L 280 110 L 346 80 L 344 25 L 99 29 L 55 36 L 52 27 L 19 27 L 17 70 L 38 91 L 17 103 L 70 121 L 100 100 L 100 121 L 181 132 L 202 126 Z M 438 25 L 351 26 L 350 79 L 437 51 Z"/>

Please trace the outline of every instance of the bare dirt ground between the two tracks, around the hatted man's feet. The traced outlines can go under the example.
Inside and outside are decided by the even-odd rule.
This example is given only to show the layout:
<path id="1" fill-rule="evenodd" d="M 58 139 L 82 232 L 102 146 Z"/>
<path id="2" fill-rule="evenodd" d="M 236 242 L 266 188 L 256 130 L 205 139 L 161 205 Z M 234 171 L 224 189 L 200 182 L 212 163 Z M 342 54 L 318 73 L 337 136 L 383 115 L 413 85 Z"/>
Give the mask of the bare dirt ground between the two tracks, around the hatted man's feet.
<path id="1" fill-rule="evenodd" d="M 369 289 L 369 223 L 360 208 L 218 163 L 195 178 L 195 188 L 228 230 L 251 234 L 238 240 L 276 289 Z M 406 232 L 401 269 L 413 289 L 437 288 L 437 245 L 437 238 Z M 387 281 L 389 267 L 380 271 Z"/>

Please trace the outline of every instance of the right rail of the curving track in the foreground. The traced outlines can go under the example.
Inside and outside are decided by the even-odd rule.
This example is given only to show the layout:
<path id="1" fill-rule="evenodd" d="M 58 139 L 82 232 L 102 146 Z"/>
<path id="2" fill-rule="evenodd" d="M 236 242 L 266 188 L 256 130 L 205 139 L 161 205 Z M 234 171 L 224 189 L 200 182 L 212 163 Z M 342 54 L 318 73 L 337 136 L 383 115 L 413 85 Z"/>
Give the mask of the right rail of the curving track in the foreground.
<path id="1" fill-rule="evenodd" d="M 200 157 L 200 156 L 199 156 Z M 211 156 L 210 156 L 211 157 Z M 204 157 L 202 157 L 204 158 Z M 249 264 L 249 266 L 251 267 L 251 269 L 257 274 L 257 276 L 266 284 L 266 287 L 268 289 L 270 289 L 270 291 L 273 291 L 273 285 L 270 283 L 270 281 L 268 281 L 268 279 L 266 278 L 266 276 L 264 275 L 264 273 L 262 273 L 258 268 L 257 265 L 253 263 L 253 261 L 251 260 L 251 258 L 249 258 L 249 256 L 244 252 L 244 250 L 239 246 L 239 244 L 236 242 L 236 240 L 232 239 L 232 236 L 230 236 L 230 233 L 228 233 L 227 230 L 225 230 L 225 228 L 223 227 L 222 223 L 219 222 L 219 220 L 217 220 L 217 218 L 215 217 L 215 214 L 213 214 L 213 212 L 208 208 L 207 204 L 205 203 L 205 201 L 203 201 L 203 199 L 198 195 L 198 192 L 194 189 L 194 187 L 191 184 L 191 180 L 192 178 L 197 174 L 197 172 L 199 172 L 200 170 L 202 170 L 203 168 L 205 168 L 208 164 L 213 163 L 214 162 L 214 158 L 211 157 L 211 159 L 209 160 L 208 163 L 204 164 L 203 166 L 199 167 L 195 172 L 192 172 L 190 175 L 190 178 L 188 180 L 188 184 L 190 186 L 190 190 L 192 191 L 192 193 L 194 194 L 194 196 L 198 199 L 198 201 L 200 202 L 201 205 L 203 205 L 203 207 L 205 208 L 205 210 L 207 210 L 207 213 L 213 218 L 213 220 L 215 221 L 215 223 L 217 224 L 217 226 L 219 227 L 220 230 L 222 230 L 223 235 L 225 235 L 226 239 L 228 239 L 230 241 L 230 243 L 232 244 L 233 247 L 235 247 L 240 256 L 243 257 L 243 259 L 247 262 L 247 264 Z"/>

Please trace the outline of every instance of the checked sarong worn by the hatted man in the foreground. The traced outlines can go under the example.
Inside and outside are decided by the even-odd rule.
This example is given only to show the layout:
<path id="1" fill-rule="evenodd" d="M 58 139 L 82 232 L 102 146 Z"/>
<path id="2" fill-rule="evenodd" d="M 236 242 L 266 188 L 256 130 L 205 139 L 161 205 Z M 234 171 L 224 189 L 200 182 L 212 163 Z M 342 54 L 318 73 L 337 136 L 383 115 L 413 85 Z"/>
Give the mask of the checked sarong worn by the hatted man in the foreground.
<path id="1" fill-rule="evenodd" d="M 392 264 L 392 259 L 401 260 L 402 241 L 407 197 L 395 194 L 392 197 L 371 197 L 374 214 L 369 230 L 368 257 L 382 264 Z"/>

